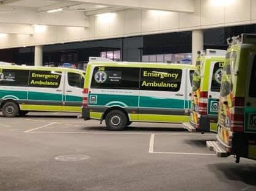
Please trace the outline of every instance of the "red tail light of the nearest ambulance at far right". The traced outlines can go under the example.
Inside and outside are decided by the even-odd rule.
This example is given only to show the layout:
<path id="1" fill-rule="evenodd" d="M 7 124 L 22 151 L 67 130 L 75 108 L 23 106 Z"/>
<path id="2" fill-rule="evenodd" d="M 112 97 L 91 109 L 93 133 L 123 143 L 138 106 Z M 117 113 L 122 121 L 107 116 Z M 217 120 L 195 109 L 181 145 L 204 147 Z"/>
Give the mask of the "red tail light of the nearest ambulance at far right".
<path id="1" fill-rule="evenodd" d="M 230 130 L 244 131 L 244 97 L 233 97 L 230 119 Z"/>

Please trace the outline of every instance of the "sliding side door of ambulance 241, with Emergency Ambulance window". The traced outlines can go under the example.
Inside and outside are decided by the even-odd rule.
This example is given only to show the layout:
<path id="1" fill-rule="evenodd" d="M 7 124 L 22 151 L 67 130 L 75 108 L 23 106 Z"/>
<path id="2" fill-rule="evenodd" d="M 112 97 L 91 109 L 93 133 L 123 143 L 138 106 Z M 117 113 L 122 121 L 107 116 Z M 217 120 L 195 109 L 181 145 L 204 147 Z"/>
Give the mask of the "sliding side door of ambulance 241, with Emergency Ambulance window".
<path id="1" fill-rule="evenodd" d="M 181 122 L 183 117 L 178 116 L 185 113 L 185 75 L 183 69 L 142 68 L 139 120 Z"/>

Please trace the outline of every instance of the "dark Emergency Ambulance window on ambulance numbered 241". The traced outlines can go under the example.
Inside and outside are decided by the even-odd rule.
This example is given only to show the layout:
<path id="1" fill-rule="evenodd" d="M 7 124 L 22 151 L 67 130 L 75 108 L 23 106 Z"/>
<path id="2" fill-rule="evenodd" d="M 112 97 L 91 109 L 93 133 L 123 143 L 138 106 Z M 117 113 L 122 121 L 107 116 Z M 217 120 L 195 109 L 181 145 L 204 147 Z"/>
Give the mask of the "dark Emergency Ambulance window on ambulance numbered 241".
<path id="1" fill-rule="evenodd" d="M 152 91 L 179 91 L 181 69 L 141 69 L 141 89 Z"/>

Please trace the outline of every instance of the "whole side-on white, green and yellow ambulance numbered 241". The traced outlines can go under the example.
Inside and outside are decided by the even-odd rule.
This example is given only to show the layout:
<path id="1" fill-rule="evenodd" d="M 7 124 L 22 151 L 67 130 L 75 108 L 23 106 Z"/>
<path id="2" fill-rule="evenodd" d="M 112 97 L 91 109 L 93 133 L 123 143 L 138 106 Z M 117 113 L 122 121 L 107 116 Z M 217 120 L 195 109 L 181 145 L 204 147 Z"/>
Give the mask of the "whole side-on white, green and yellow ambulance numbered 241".
<path id="1" fill-rule="evenodd" d="M 82 117 L 105 120 L 108 130 L 123 130 L 131 122 L 188 122 L 194 69 L 188 64 L 90 62 Z"/>

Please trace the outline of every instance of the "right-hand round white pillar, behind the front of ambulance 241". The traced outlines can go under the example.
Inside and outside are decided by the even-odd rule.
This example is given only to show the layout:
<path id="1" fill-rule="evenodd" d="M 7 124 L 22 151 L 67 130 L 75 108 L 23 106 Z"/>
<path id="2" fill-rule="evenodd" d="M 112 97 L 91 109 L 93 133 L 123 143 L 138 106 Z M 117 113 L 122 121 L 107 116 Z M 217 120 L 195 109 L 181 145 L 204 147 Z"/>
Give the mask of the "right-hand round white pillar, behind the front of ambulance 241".
<path id="1" fill-rule="evenodd" d="M 203 31 L 192 30 L 192 64 L 196 65 L 197 51 L 203 50 Z"/>

